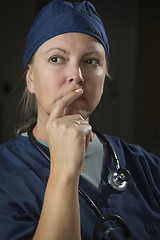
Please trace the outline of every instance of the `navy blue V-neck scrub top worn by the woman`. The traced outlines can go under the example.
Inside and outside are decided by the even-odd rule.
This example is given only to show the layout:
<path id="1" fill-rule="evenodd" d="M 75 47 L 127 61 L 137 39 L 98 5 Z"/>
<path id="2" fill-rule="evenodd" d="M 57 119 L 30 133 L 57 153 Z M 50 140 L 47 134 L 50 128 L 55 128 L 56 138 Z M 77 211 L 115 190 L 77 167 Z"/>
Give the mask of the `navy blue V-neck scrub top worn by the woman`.
<path id="1" fill-rule="evenodd" d="M 120 166 L 131 173 L 128 187 L 117 192 L 108 184 L 109 172 L 115 165 L 106 147 L 101 189 L 98 192 L 80 176 L 80 187 L 95 202 L 103 215 L 120 215 L 129 225 L 133 240 L 160 239 L 160 159 L 117 137 L 112 143 Z M 29 240 L 33 238 L 41 214 L 50 163 L 32 145 L 29 138 L 19 135 L 0 145 L 0 239 Z M 79 196 L 82 240 L 93 240 L 97 216 L 83 197 Z M 122 240 L 124 235 L 116 221 L 107 239 Z"/>

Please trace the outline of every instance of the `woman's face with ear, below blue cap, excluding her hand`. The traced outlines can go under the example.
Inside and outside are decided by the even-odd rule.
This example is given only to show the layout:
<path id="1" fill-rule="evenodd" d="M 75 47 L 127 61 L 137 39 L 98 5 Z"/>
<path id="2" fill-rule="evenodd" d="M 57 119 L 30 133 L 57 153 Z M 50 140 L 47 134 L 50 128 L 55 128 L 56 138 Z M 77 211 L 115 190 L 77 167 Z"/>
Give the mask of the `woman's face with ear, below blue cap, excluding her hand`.
<path id="1" fill-rule="evenodd" d="M 26 80 L 37 99 L 38 116 L 44 118 L 58 99 L 82 88 L 82 96 L 65 109 L 64 115 L 81 114 L 86 119 L 100 101 L 105 75 L 103 46 L 87 34 L 66 33 L 39 47 Z"/>

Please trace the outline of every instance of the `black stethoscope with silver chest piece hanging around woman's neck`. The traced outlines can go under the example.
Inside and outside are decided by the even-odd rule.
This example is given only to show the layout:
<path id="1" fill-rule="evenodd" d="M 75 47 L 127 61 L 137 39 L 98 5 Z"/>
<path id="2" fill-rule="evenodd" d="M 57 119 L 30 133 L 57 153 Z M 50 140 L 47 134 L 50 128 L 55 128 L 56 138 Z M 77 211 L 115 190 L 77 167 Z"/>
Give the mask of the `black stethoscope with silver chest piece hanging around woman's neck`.
<path id="1" fill-rule="evenodd" d="M 45 148 L 42 147 L 42 145 L 37 141 L 37 139 L 33 135 L 32 130 L 33 130 L 34 126 L 35 126 L 35 123 L 29 127 L 28 137 L 29 137 L 31 143 L 37 148 L 37 150 L 39 150 L 40 153 L 48 161 L 50 161 L 49 152 Z M 110 143 L 109 139 L 106 138 L 101 132 L 99 132 L 94 127 L 92 127 L 92 129 L 93 129 L 93 132 L 95 132 L 97 134 L 97 136 L 99 136 L 104 141 L 104 143 L 108 145 L 108 147 L 113 155 L 113 158 L 114 158 L 116 170 L 114 172 L 109 173 L 108 183 L 114 190 L 124 191 L 127 188 L 127 183 L 130 179 L 130 172 L 127 169 L 120 167 L 117 154 L 116 154 L 112 144 Z M 115 220 L 117 223 L 119 223 L 119 225 L 121 226 L 121 228 L 123 230 L 125 239 L 131 240 L 131 232 L 130 232 L 129 226 L 120 216 L 114 215 L 114 214 L 103 216 L 101 214 L 101 212 L 99 211 L 98 207 L 92 201 L 92 199 L 80 187 L 78 188 L 78 192 L 85 199 L 85 201 L 88 203 L 88 205 L 92 208 L 92 210 L 95 212 L 95 214 L 98 217 L 98 222 L 96 223 L 96 225 L 94 227 L 94 240 L 100 239 L 99 235 L 100 235 L 101 227 L 108 220 Z M 109 236 L 110 232 L 112 232 L 113 230 L 114 230 L 114 228 L 112 228 L 112 227 L 108 228 L 104 232 L 105 236 L 102 239 L 104 239 L 104 240 L 107 239 L 107 236 Z"/>

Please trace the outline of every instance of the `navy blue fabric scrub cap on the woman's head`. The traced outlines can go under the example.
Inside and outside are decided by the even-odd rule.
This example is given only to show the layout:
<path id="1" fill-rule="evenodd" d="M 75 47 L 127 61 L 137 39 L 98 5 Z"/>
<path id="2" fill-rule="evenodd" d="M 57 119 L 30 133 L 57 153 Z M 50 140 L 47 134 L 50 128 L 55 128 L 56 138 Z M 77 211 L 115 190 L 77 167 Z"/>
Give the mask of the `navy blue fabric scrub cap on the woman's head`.
<path id="1" fill-rule="evenodd" d="M 47 40 L 68 32 L 89 34 L 104 46 L 109 60 L 109 45 L 103 23 L 89 1 L 52 0 L 41 9 L 28 34 L 23 56 L 24 70 L 35 51 Z"/>

